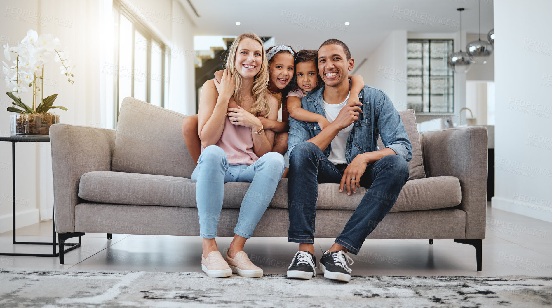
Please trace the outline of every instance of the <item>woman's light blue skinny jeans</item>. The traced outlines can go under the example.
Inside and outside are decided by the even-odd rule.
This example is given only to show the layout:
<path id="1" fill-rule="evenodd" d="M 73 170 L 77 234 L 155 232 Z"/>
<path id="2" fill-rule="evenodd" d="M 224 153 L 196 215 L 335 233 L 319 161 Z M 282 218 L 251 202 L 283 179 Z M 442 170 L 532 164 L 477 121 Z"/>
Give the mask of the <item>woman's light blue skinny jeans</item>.
<path id="1" fill-rule="evenodd" d="M 224 198 L 224 183 L 251 182 L 240 207 L 240 217 L 234 233 L 249 239 L 274 196 L 284 174 L 284 157 L 277 152 L 264 154 L 252 165 L 229 165 L 226 153 L 209 145 L 199 155 L 191 179 L 196 181 L 199 236 L 216 237 L 220 210 Z"/>

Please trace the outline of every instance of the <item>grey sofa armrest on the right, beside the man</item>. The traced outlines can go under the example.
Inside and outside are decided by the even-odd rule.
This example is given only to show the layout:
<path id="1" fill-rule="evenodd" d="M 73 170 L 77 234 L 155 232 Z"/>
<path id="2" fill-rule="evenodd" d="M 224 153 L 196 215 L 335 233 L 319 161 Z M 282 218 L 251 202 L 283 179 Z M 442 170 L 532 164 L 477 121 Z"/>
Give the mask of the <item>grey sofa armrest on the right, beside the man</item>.
<path id="1" fill-rule="evenodd" d="M 455 176 L 466 212 L 466 239 L 485 238 L 487 211 L 487 129 L 455 127 L 423 132 L 426 176 Z"/>

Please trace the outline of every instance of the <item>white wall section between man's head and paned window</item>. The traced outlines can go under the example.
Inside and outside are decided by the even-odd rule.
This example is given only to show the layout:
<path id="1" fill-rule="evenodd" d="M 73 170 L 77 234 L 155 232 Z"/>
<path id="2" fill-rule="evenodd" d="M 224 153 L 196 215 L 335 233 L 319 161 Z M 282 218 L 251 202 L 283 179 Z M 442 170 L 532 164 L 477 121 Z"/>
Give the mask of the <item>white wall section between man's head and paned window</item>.
<path id="1" fill-rule="evenodd" d="M 406 30 L 392 31 L 355 72 L 365 84 L 387 93 L 397 110 L 406 109 L 406 40 Z M 364 58 L 352 56 L 355 66 Z"/>

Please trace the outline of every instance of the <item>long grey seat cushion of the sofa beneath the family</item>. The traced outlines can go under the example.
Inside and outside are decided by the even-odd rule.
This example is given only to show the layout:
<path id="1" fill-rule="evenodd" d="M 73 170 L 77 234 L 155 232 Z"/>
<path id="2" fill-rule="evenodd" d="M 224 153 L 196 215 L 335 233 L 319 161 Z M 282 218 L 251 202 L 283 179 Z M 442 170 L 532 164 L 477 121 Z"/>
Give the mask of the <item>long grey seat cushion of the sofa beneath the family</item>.
<path id="1" fill-rule="evenodd" d="M 240 208 L 250 183 L 230 182 L 224 185 L 222 208 Z M 288 179 L 282 179 L 270 207 L 288 208 Z M 366 193 L 347 196 L 338 193 L 339 184 L 319 184 L 318 209 L 354 210 Z M 102 203 L 144 206 L 197 207 L 195 181 L 183 177 L 137 174 L 114 171 L 91 171 L 82 175 L 78 196 Z M 438 176 L 407 181 L 391 212 L 454 207 L 460 204 L 460 182 L 453 176 Z"/>

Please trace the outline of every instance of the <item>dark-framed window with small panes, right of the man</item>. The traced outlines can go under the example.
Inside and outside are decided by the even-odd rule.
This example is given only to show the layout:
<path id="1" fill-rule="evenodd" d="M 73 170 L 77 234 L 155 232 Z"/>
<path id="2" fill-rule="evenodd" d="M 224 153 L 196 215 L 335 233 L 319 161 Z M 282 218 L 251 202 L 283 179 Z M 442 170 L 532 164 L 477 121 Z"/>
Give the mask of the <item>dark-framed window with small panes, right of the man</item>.
<path id="1" fill-rule="evenodd" d="M 454 72 L 447 64 L 453 47 L 453 40 L 408 40 L 408 109 L 454 112 Z"/>

